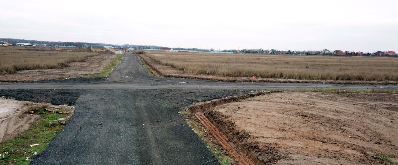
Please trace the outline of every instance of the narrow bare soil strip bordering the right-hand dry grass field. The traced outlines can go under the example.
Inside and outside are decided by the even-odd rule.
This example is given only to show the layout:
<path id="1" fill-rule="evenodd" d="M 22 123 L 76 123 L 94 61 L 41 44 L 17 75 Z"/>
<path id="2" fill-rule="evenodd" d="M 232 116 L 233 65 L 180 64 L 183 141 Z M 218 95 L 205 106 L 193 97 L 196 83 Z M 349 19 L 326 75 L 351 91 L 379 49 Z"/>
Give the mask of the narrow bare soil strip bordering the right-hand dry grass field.
<path id="1" fill-rule="evenodd" d="M 228 82 L 252 82 L 252 77 L 220 77 L 214 75 L 194 75 L 183 70 L 174 69 L 171 66 L 162 65 L 144 54 L 140 58 L 155 75 L 165 77 L 178 77 L 187 79 L 205 79 Z M 294 82 L 294 83 L 321 83 L 321 84 L 398 84 L 398 81 L 343 81 L 343 80 L 300 80 L 300 79 L 276 79 L 276 78 L 255 78 L 254 82 Z"/>

